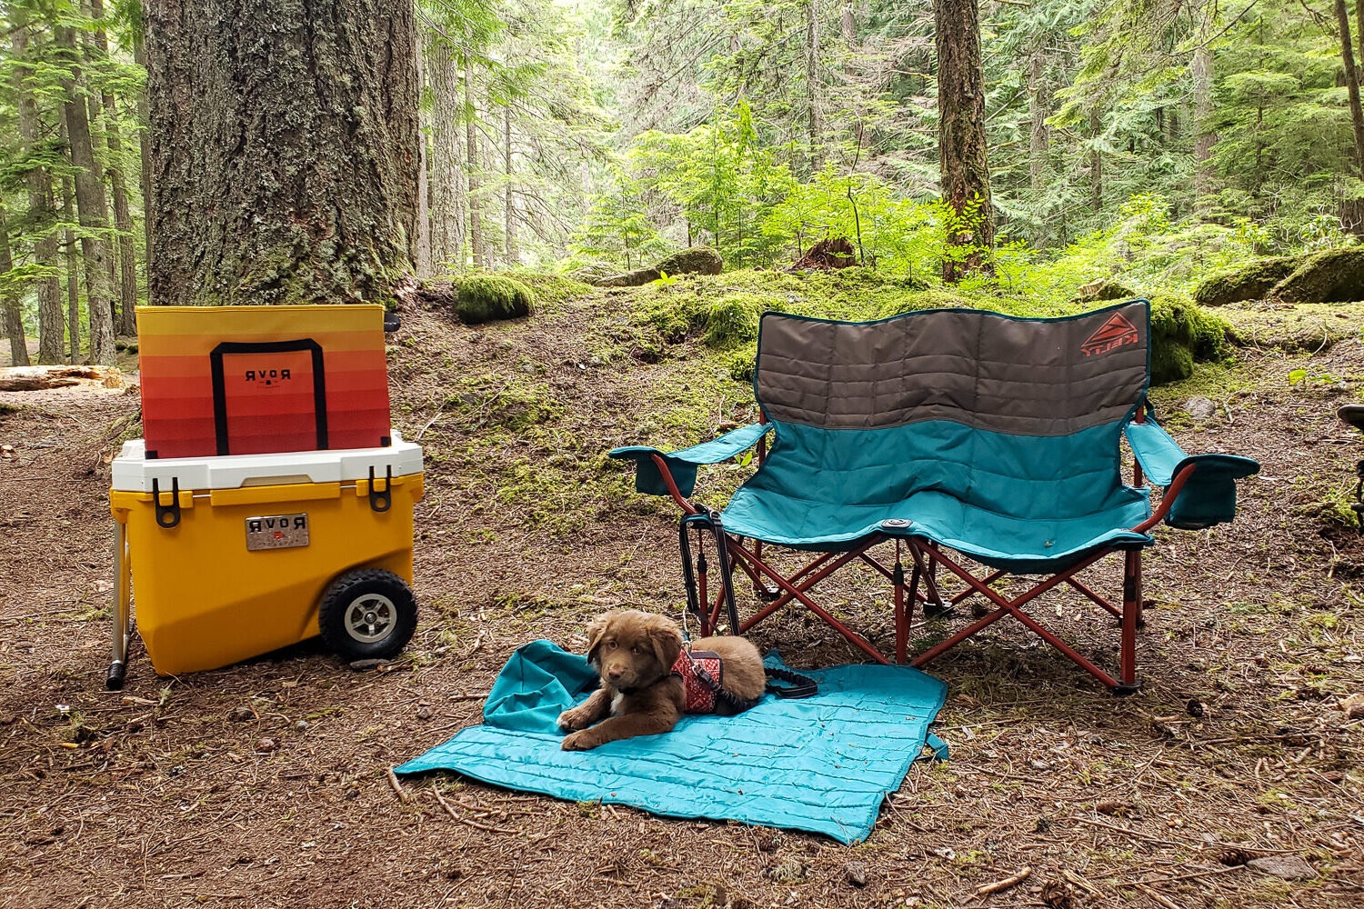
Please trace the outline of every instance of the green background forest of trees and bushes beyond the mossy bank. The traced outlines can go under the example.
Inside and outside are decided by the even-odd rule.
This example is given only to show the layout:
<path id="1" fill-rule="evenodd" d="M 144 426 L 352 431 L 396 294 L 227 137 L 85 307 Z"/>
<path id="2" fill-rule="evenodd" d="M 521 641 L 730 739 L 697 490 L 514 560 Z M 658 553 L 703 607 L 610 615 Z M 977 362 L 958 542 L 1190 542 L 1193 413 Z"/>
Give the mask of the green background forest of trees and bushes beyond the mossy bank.
<path id="1" fill-rule="evenodd" d="M 147 301 L 140 4 L 3 8 L 12 361 L 27 337 L 38 361 L 112 363 Z M 997 236 L 966 289 L 1187 290 L 1352 243 L 1352 26 L 1359 46 L 1344 0 L 982 0 Z M 962 255 L 932 0 L 421 0 L 419 27 L 419 277 L 600 275 L 689 245 L 771 268 L 836 237 L 928 285 Z"/>

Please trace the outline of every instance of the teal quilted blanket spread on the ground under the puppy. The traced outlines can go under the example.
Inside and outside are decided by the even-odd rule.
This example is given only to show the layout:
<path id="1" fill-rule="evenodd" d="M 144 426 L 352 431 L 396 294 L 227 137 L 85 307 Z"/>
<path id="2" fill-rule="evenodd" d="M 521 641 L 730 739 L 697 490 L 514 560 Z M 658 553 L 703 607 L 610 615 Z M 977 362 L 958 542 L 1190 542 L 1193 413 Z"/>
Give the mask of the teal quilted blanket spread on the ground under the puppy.
<path id="1" fill-rule="evenodd" d="M 773 653 L 768 665 L 783 664 Z M 767 695 L 738 717 L 685 717 L 667 735 L 572 752 L 559 748 L 563 733 L 555 720 L 587 698 L 596 676 L 582 657 L 536 641 L 502 669 L 484 725 L 461 729 L 397 773 L 454 770 L 559 799 L 858 842 L 921 755 L 947 685 L 908 666 L 848 665 L 807 675 L 820 684 L 813 698 Z"/>

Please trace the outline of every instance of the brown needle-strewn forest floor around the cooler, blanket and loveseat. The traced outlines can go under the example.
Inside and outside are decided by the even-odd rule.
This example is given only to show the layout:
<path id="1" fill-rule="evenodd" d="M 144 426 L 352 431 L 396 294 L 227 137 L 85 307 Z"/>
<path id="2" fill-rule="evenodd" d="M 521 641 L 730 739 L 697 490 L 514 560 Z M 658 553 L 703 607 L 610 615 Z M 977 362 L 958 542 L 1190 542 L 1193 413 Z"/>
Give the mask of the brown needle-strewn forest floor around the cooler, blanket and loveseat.
<path id="1" fill-rule="evenodd" d="M 1364 436 L 1334 416 L 1364 398 L 1356 308 L 1318 352 L 1271 345 L 1278 322 L 1320 313 L 1247 308 L 1264 346 L 1153 392 L 1185 448 L 1251 455 L 1263 470 L 1243 484 L 1233 526 L 1157 531 L 1143 691 L 1114 699 L 1015 623 L 996 624 L 933 664 L 949 691 L 934 729 L 951 760 L 915 765 L 865 844 L 439 774 L 405 781 L 400 799 L 387 769 L 479 722 L 516 647 L 580 649 L 584 623 L 618 604 L 675 615 L 671 508 L 634 495 L 603 452 L 696 442 L 754 412 L 749 387 L 700 343 L 662 358 L 641 346 L 642 293 L 473 328 L 405 316 L 390 378 L 394 421 L 427 451 L 421 623 L 390 672 L 353 672 L 306 643 L 158 679 L 135 646 L 127 688 L 106 692 L 108 461 L 136 432 L 138 397 L 0 395 L 0 443 L 14 448 L 0 461 L 0 905 L 1364 901 L 1364 720 L 1339 709 L 1364 690 L 1364 537 L 1341 521 Z M 1183 413 L 1191 395 L 1217 412 Z M 722 500 L 743 472 L 717 467 L 702 499 Z M 1117 579 L 1108 567 L 1091 572 L 1099 589 Z M 885 594 L 857 574 L 825 590 L 889 649 Z M 1116 631 L 1093 609 L 1064 596 L 1043 609 L 1083 653 L 1113 661 Z M 753 636 L 794 666 L 858 658 L 794 611 Z M 1279 861 L 1247 864 L 1259 859 Z M 848 863 L 865 863 L 865 887 Z M 978 895 L 1024 867 L 1022 884 Z"/>

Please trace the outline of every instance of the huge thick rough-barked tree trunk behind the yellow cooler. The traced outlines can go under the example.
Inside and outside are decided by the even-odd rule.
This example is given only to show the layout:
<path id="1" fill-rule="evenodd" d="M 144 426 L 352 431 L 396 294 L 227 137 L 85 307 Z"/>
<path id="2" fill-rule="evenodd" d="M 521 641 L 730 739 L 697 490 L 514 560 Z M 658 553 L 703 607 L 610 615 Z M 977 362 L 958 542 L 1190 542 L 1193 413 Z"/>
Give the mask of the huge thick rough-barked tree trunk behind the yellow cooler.
<path id="1" fill-rule="evenodd" d="M 150 292 L 169 304 L 378 303 L 412 283 L 413 5 L 147 5 Z"/>

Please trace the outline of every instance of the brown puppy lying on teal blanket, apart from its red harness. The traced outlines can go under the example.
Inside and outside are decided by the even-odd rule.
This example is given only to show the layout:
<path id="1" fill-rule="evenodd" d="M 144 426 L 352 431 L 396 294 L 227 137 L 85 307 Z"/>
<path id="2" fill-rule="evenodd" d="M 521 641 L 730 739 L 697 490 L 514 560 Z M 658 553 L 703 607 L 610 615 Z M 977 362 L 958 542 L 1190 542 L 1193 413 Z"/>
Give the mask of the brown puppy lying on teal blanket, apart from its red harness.
<path id="1" fill-rule="evenodd" d="M 743 638 L 701 638 L 693 649 L 720 654 L 726 690 L 746 700 L 762 694 L 762 657 Z M 588 626 L 588 662 L 602 676 L 602 687 L 559 714 L 559 728 L 570 732 L 563 737 L 563 750 L 587 751 L 672 729 L 683 706 L 682 680 L 672 675 L 681 653 L 682 632 L 663 616 L 625 609 L 593 619 Z"/>

